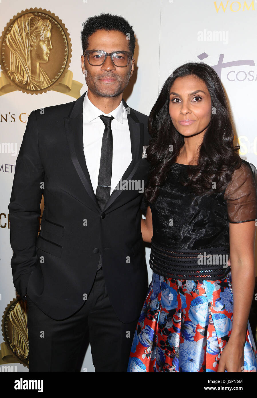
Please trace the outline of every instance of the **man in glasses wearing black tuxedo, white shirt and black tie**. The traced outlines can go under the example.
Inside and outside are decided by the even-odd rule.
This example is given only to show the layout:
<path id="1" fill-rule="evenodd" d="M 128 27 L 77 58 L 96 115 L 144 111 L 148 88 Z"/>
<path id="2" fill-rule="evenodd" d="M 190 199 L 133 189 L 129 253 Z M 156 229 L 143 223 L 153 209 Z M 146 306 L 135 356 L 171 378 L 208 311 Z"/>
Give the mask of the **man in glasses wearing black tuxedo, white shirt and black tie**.
<path id="1" fill-rule="evenodd" d="M 140 230 L 148 117 L 122 99 L 134 31 L 100 14 L 84 23 L 82 47 L 88 91 L 31 112 L 9 204 L 30 372 L 80 371 L 86 335 L 95 371 L 126 372 L 148 288 Z"/>

